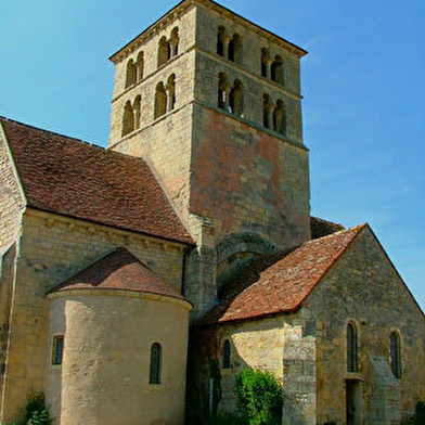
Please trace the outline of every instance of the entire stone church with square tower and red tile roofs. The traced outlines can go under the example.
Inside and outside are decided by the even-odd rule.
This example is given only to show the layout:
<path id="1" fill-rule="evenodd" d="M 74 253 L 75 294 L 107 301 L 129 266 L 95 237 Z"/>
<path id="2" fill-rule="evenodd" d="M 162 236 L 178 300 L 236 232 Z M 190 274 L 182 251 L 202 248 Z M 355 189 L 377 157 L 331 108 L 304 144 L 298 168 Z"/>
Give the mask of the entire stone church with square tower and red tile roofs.
<path id="1" fill-rule="evenodd" d="M 182 425 L 234 411 L 245 366 L 288 425 L 425 400 L 424 313 L 372 229 L 310 217 L 306 53 L 183 0 L 112 55 L 107 149 L 0 118 L 1 424 L 43 391 L 55 425 Z"/>

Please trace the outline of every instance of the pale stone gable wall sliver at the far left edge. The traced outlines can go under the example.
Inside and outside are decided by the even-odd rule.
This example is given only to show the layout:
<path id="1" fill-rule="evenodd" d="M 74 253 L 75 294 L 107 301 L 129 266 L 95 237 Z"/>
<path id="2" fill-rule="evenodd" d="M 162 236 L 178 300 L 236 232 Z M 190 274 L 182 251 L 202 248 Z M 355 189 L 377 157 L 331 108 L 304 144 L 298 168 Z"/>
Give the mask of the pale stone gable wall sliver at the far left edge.
<path id="1" fill-rule="evenodd" d="M 0 256 L 20 234 L 24 197 L 0 124 Z"/>

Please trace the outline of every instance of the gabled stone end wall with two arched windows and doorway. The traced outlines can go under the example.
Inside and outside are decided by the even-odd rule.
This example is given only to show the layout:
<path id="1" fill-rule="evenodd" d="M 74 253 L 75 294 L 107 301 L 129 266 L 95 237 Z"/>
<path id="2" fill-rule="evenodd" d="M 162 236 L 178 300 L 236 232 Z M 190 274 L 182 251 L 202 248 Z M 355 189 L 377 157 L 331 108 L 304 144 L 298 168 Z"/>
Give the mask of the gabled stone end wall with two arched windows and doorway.
<path id="1" fill-rule="evenodd" d="M 305 306 L 317 322 L 318 423 L 346 420 L 346 379 L 362 383 L 363 421 L 398 424 L 425 400 L 425 321 L 369 228 L 351 243 Z M 346 327 L 358 331 L 359 372 L 346 366 Z M 401 337 L 401 378 L 389 365 L 389 335 Z"/>

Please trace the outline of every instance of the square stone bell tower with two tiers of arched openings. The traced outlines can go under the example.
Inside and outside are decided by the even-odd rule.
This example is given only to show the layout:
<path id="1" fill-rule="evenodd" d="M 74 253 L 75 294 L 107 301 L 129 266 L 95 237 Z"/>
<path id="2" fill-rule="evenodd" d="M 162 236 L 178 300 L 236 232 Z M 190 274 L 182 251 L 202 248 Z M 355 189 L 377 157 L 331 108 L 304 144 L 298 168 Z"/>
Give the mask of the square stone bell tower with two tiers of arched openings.
<path id="1" fill-rule="evenodd" d="M 184 0 L 111 57 L 110 149 L 149 162 L 197 241 L 195 311 L 237 253 L 310 237 L 305 54 L 210 0 Z"/>

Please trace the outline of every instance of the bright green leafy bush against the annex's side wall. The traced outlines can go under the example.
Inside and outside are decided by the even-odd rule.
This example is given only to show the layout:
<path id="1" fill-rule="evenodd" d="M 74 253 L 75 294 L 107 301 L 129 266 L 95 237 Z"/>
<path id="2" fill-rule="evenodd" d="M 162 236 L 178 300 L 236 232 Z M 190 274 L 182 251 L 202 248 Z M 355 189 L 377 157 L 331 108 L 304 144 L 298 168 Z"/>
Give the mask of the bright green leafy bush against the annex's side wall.
<path id="1" fill-rule="evenodd" d="M 281 425 L 283 392 L 270 372 L 244 369 L 235 381 L 237 407 L 249 425 Z"/>

